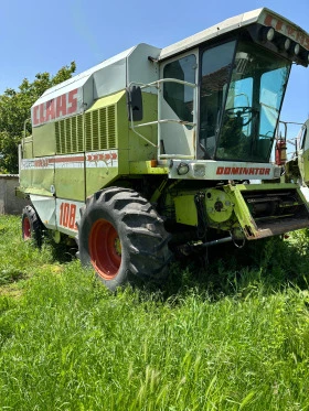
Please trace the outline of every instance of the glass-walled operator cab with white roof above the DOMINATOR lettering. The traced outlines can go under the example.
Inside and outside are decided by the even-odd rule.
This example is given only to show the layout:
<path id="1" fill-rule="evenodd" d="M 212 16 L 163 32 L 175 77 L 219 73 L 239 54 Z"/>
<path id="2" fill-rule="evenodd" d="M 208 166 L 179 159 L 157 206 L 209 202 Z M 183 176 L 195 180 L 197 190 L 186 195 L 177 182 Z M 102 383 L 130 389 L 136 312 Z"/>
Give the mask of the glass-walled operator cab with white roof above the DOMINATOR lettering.
<path id="1" fill-rule="evenodd" d="M 273 15 L 258 19 L 163 51 L 159 158 L 269 162 L 291 64 L 307 66 L 309 54 L 284 21 L 275 30 Z"/>

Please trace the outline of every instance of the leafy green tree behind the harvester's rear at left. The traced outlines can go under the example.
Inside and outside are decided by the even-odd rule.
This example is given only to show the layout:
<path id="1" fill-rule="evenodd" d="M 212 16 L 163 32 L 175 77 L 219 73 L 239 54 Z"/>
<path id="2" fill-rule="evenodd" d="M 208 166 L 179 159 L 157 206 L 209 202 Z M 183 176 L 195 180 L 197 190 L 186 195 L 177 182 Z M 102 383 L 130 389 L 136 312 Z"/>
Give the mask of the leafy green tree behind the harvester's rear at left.
<path id="1" fill-rule="evenodd" d="M 24 121 L 30 118 L 30 109 L 50 87 L 72 77 L 75 62 L 62 67 L 54 76 L 39 73 L 33 83 L 24 78 L 18 90 L 7 88 L 0 96 L 0 173 L 18 173 L 18 144 L 23 137 Z M 26 134 L 31 133 L 30 125 Z"/>

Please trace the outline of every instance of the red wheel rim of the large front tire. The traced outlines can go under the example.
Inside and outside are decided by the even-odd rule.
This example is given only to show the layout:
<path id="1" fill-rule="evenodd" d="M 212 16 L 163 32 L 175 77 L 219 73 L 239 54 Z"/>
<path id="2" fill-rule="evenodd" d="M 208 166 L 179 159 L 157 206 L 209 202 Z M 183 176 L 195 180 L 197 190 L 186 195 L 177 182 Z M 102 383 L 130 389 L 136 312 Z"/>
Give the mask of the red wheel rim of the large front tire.
<path id="1" fill-rule="evenodd" d="M 113 280 L 121 263 L 121 245 L 113 224 L 98 219 L 92 227 L 89 255 L 96 272 L 105 280 Z"/>

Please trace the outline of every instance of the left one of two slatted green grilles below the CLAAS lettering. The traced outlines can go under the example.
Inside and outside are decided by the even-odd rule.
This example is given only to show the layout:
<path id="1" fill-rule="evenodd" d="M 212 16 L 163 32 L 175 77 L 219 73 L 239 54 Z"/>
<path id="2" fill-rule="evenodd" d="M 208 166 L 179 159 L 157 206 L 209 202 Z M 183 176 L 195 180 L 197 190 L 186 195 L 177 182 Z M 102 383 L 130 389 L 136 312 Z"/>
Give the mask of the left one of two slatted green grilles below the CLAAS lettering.
<path id="1" fill-rule="evenodd" d="M 57 154 L 84 151 L 82 115 L 56 121 L 55 133 Z"/>

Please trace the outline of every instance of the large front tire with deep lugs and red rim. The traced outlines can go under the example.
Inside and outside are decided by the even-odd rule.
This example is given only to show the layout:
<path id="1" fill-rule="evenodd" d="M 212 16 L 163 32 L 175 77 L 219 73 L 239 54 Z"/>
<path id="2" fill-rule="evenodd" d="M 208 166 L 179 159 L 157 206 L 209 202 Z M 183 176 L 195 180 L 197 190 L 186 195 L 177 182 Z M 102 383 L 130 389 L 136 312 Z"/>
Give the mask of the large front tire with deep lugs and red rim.
<path id="1" fill-rule="evenodd" d="M 161 282 L 171 252 L 163 220 L 137 192 L 111 187 L 89 198 L 78 225 L 79 258 L 115 291 L 135 278 Z"/>

